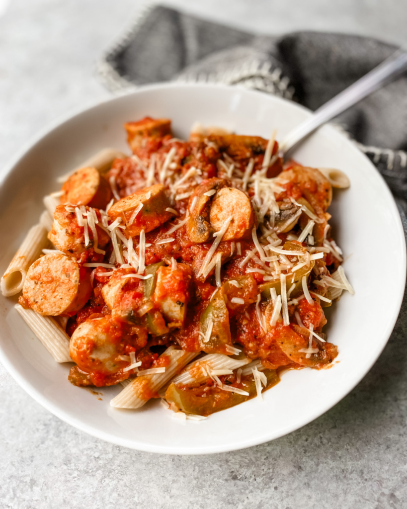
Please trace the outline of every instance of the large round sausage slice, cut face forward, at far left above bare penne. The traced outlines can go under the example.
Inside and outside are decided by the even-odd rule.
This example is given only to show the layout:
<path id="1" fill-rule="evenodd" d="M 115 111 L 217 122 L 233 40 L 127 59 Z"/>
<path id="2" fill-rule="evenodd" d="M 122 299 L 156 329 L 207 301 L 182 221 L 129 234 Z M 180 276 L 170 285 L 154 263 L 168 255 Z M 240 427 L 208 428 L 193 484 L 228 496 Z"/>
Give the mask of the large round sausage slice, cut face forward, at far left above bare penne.
<path id="1" fill-rule="evenodd" d="M 22 296 L 43 316 L 75 315 L 92 293 L 90 271 L 66 254 L 46 254 L 28 269 Z"/>

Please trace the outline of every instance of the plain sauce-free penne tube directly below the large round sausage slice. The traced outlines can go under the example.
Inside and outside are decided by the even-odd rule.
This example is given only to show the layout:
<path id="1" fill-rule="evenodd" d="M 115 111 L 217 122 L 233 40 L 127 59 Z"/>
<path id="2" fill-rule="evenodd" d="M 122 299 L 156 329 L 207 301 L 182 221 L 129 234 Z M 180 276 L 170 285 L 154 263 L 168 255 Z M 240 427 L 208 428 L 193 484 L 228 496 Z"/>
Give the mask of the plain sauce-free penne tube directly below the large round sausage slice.
<path id="1" fill-rule="evenodd" d="M 72 362 L 69 356 L 69 336 L 53 318 L 38 315 L 20 304 L 16 304 L 15 308 L 56 362 Z"/>

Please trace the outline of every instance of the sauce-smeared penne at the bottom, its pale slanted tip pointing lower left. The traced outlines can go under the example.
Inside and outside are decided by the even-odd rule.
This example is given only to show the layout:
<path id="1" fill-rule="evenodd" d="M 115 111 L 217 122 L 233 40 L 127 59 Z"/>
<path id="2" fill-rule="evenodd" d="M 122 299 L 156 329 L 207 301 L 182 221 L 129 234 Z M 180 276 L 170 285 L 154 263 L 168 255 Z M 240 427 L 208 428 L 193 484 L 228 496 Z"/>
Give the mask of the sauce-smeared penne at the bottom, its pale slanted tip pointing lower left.
<path id="1" fill-rule="evenodd" d="M 170 363 L 164 373 L 155 375 L 142 375 L 132 380 L 115 398 L 110 401 L 110 406 L 115 408 L 140 408 L 152 397 L 153 394 L 176 375 L 189 361 L 199 352 L 185 352 L 169 347 L 160 356 L 168 356 Z"/>

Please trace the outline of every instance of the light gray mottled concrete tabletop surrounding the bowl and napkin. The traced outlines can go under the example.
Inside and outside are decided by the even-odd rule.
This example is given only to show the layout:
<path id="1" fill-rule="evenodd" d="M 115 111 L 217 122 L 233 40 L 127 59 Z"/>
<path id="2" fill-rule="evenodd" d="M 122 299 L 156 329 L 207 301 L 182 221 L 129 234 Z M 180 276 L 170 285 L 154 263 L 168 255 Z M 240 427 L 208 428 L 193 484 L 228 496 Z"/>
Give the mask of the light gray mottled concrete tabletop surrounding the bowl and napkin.
<path id="1" fill-rule="evenodd" d="M 262 32 L 332 30 L 407 43 L 405 0 L 171 4 Z M 0 166 L 59 116 L 108 97 L 95 60 L 140 5 L 0 0 Z M 207 457 L 139 453 L 85 435 L 0 366 L 0 507 L 406 507 L 406 325 L 404 305 L 370 373 L 324 416 L 273 442 Z"/>

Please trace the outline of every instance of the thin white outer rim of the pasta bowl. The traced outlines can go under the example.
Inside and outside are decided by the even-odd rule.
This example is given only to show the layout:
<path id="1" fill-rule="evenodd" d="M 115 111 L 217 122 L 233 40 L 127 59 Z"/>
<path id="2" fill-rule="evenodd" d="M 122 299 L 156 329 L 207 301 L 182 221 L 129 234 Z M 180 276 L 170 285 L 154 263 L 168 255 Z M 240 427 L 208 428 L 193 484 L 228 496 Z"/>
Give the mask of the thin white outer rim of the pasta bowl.
<path id="1" fill-rule="evenodd" d="M 283 99 L 281 97 L 271 95 L 271 94 L 265 94 L 264 92 L 256 91 L 256 90 L 248 90 L 244 87 L 237 87 L 237 86 L 229 86 L 221 83 L 178 83 L 178 82 L 166 82 L 166 83 L 153 83 L 148 84 L 145 86 L 138 87 L 137 90 L 127 92 L 124 94 L 120 94 L 118 96 L 110 97 L 104 100 L 97 100 L 92 101 L 90 103 L 87 103 L 84 106 L 81 106 L 79 108 L 74 108 L 73 110 L 67 112 L 66 114 L 58 117 L 53 122 L 47 124 L 43 129 L 40 130 L 39 134 L 36 134 L 32 136 L 26 143 L 22 145 L 22 147 L 17 151 L 16 155 L 12 157 L 8 162 L 5 164 L 2 176 L 0 178 L 0 186 L 3 186 L 7 179 L 10 177 L 12 172 L 14 171 L 14 167 L 18 164 L 18 162 L 25 156 L 25 154 L 32 150 L 38 143 L 41 142 L 43 138 L 45 138 L 47 135 L 49 135 L 53 130 L 56 128 L 64 125 L 67 122 L 70 122 L 75 117 L 80 116 L 81 114 L 94 110 L 98 108 L 99 106 L 102 106 L 107 103 L 112 103 L 115 101 L 119 101 L 123 98 L 130 98 L 132 96 L 137 96 L 140 93 L 143 92 L 149 92 L 149 91 L 155 91 L 155 90 L 162 90 L 162 89 L 182 89 L 182 88 L 188 88 L 188 89 L 200 89 L 200 88 L 206 88 L 206 89 L 222 89 L 226 91 L 236 91 L 237 89 L 244 92 L 245 94 L 253 94 L 257 96 L 261 96 L 263 98 L 270 98 L 274 101 L 278 101 L 284 104 L 289 103 L 290 105 L 297 107 L 304 112 L 306 112 L 307 115 L 311 115 L 312 111 L 306 108 L 305 106 L 302 106 L 300 104 L 294 103 L 293 101 L 289 101 L 287 99 Z M 158 454 L 176 454 L 176 455 L 206 455 L 206 454 L 216 454 L 216 453 L 224 453 L 231 450 L 239 450 L 244 449 L 247 447 L 252 447 L 255 445 L 259 445 L 271 440 L 275 440 L 277 438 L 280 438 L 284 435 L 287 435 L 289 433 L 292 433 L 293 431 L 296 431 L 303 426 L 307 425 L 308 423 L 312 422 L 317 417 L 323 415 L 328 410 L 330 410 L 332 407 L 334 407 L 339 401 L 341 401 L 348 393 L 350 393 L 359 383 L 360 381 L 366 376 L 366 374 L 370 371 L 371 367 L 376 362 L 377 358 L 381 355 L 383 352 L 385 346 L 387 345 L 387 342 L 390 338 L 390 335 L 394 329 L 394 325 L 397 321 L 399 311 L 401 308 L 401 304 L 403 301 L 404 296 L 404 287 L 405 287 L 405 277 L 407 273 L 407 253 L 406 253 L 406 243 L 405 243 L 405 235 L 404 230 L 402 226 L 402 221 L 400 218 L 400 213 L 398 211 L 397 205 L 394 200 L 394 196 L 391 193 L 386 181 L 384 180 L 383 176 L 377 171 L 377 169 L 374 167 L 374 165 L 371 163 L 371 161 L 368 159 L 368 157 L 363 154 L 356 145 L 352 144 L 351 140 L 348 139 L 345 134 L 342 134 L 341 132 L 338 132 L 335 127 L 333 127 L 330 124 L 326 124 L 323 126 L 325 129 L 333 130 L 336 135 L 343 137 L 346 139 L 347 142 L 347 150 L 352 150 L 355 153 L 358 153 L 359 155 L 362 155 L 366 162 L 371 166 L 372 171 L 376 172 L 376 176 L 379 177 L 382 181 L 383 186 L 383 192 L 387 194 L 387 197 L 390 198 L 390 204 L 392 207 L 392 212 L 395 213 L 395 217 L 397 218 L 397 224 L 398 224 L 398 236 L 399 238 L 397 241 L 401 241 L 401 258 L 402 258 L 402 271 L 403 271 L 403 280 L 404 284 L 399 286 L 398 295 L 396 296 L 397 299 L 397 306 L 393 308 L 393 313 L 391 316 L 391 319 L 388 320 L 386 331 L 383 334 L 383 337 L 386 338 L 385 341 L 383 341 L 377 349 L 374 351 L 374 353 L 371 355 L 370 362 L 366 364 L 363 370 L 358 372 L 358 375 L 353 379 L 352 386 L 348 388 L 345 392 L 341 393 L 329 402 L 329 405 L 326 406 L 325 410 L 321 413 L 321 410 L 316 410 L 311 415 L 308 415 L 303 420 L 298 420 L 295 423 L 293 423 L 292 426 L 287 427 L 284 429 L 284 431 L 281 431 L 280 433 L 273 434 L 272 436 L 267 435 L 257 435 L 253 438 L 245 439 L 242 442 L 236 443 L 234 446 L 228 445 L 212 445 L 212 446 L 196 446 L 194 448 L 190 448 L 188 450 L 186 449 L 180 449 L 178 446 L 163 446 L 163 445 L 155 445 L 153 443 L 144 443 L 144 442 L 137 442 L 137 440 L 130 440 L 127 438 L 121 439 L 120 437 L 113 436 L 107 432 L 101 431 L 97 428 L 94 428 L 91 425 L 86 424 L 85 422 L 81 421 L 80 419 L 73 416 L 71 413 L 61 409 L 60 407 L 54 405 L 51 403 L 41 392 L 37 391 L 28 380 L 26 380 L 18 370 L 14 367 L 14 364 L 11 359 L 7 356 L 6 352 L 3 350 L 2 344 L 0 343 L 0 361 L 6 368 L 6 370 L 10 373 L 10 375 L 14 378 L 14 380 L 28 393 L 31 395 L 31 397 L 40 403 L 44 408 L 46 408 L 48 411 L 50 411 L 55 416 L 59 417 L 63 421 L 67 422 L 71 426 L 74 426 L 75 428 L 79 429 L 80 431 L 84 431 L 85 433 L 90 434 L 91 436 L 100 438 L 102 440 L 105 440 L 110 443 L 114 443 L 116 445 L 124 446 L 131 449 L 151 452 L 151 453 L 158 453 Z"/>

